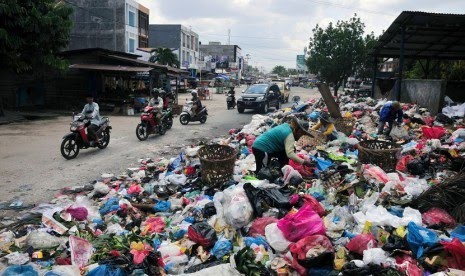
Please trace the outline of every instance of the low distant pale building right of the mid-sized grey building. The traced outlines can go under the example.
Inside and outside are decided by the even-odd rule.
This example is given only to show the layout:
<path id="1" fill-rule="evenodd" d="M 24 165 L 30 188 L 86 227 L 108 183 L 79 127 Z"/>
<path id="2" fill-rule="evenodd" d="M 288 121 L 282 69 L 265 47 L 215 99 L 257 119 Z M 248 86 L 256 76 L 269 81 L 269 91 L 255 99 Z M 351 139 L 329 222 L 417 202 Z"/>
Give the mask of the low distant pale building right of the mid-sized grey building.
<path id="1" fill-rule="evenodd" d="M 200 59 L 209 62 L 216 73 L 231 73 L 237 79 L 242 76 L 244 68 L 241 48 L 237 45 L 221 45 L 210 42 L 200 45 Z"/>

